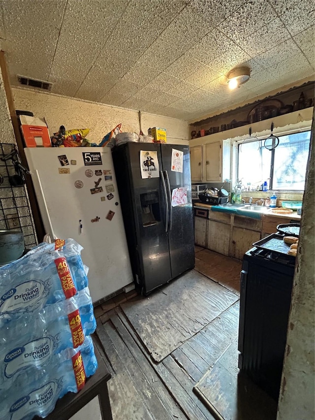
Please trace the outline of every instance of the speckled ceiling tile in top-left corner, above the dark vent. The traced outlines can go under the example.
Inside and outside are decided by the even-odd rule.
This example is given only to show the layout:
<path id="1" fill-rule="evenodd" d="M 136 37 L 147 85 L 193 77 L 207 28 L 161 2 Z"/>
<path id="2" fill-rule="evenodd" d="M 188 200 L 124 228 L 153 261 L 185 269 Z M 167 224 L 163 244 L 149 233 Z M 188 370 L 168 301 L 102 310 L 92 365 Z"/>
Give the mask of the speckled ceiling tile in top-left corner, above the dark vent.
<path id="1" fill-rule="evenodd" d="M 2 1 L 2 18 L 11 82 L 16 74 L 47 80 L 65 1 Z"/>

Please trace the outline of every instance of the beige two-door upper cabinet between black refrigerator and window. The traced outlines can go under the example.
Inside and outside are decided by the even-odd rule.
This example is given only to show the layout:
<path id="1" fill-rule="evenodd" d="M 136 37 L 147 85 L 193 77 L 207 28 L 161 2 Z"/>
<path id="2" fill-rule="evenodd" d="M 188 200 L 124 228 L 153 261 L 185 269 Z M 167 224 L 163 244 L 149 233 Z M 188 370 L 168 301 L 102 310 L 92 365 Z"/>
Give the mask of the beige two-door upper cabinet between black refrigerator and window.
<path id="1" fill-rule="evenodd" d="M 190 147 L 192 182 L 223 182 L 230 179 L 231 147 L 228 140 Z"/>

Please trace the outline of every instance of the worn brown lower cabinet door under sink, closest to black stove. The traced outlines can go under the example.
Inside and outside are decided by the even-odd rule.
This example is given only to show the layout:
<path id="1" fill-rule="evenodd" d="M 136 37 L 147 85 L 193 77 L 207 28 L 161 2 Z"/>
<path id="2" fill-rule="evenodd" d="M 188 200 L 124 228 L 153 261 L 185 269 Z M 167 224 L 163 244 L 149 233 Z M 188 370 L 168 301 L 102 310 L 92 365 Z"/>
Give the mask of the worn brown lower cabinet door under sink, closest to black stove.
<path id="1" fill-rule="evenodd" d="M 252 244 L 259 239 L 260 232 L 233 226 L 229 256 L 242 260 L 244 254 L 252 248 Z"/>

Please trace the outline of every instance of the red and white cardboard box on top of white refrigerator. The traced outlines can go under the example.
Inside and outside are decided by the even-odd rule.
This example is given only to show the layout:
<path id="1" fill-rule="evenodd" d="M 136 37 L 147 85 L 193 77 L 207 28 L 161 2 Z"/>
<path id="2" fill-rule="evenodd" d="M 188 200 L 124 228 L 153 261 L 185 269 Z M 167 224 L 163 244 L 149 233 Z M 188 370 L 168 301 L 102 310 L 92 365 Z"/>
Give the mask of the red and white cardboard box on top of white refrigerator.
<path id="1" fill-rule="evenodd" d="M 51 147 L 50 135 L 43 118 L 20 115 L 26 147 Z"/>

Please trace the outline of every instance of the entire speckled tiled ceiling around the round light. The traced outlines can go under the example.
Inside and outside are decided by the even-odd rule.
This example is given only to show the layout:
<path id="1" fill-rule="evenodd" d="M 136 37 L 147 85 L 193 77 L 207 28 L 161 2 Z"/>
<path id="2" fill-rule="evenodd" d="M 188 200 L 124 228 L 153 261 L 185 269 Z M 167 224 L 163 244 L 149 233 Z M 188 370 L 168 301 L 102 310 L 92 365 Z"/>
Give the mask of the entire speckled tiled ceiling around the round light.
<path id="1" fill-rule="evenodd" d="M 306 0 L 0 4 L 12 84 L 21 72 L 49 77 L 60 95 L 191 119 L 314 73 Z M 252 77 L 230 92 L 225 76 L 241 64 Z"/>

